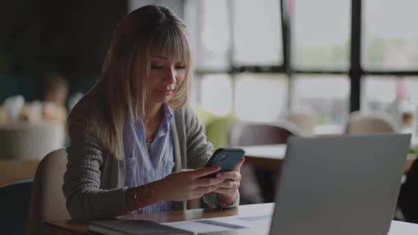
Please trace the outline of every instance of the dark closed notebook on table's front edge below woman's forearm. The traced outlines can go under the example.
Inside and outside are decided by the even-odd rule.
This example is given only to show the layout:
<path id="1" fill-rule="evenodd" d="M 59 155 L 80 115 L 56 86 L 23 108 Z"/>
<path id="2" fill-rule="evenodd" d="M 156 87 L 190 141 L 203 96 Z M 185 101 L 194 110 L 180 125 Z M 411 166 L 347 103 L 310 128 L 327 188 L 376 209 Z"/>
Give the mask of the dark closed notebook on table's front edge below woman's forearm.
<path id="1" fill-rule="evenodd" d="M 122 221 L 117 219 L 89 221 L 89 231 L 107 235 L 193 234 L 186 230 L 160 225 L 153 221 Z"/>

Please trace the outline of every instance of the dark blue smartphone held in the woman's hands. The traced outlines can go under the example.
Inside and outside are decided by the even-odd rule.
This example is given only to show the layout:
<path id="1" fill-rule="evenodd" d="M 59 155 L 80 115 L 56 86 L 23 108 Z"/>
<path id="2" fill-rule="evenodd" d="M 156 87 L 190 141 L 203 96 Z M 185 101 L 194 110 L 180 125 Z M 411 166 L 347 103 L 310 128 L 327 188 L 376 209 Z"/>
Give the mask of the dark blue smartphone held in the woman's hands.
<path id="1" fill-rule="evenodd" d="M 234 170 L 244 154 L 245 151 L 242 148 L 218 148 L 210 157 L 206 166 L 217 165 L 221 167 L 221 171 L 231 171 Z M 215 174 L 206 175 L 205 177 L 214 177 Z"/>

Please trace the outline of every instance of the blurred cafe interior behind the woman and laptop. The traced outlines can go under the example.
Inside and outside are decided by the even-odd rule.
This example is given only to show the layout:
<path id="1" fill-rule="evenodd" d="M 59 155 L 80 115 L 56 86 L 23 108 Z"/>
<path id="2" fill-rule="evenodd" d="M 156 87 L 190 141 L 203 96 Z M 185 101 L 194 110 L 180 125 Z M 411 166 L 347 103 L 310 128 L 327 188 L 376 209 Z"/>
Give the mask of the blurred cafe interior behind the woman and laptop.
<path id="1" fill-rule="evenodd" d="M 0 234 L 69 219 L 67 115 L 100 76 L 117 23 L 149 4 L 186 23 L 190 104 L 214 150 L 412 133 L 393 218 L 418 223 L 418 1 L 15 0 L 0 2 Z M 274 202 L 279 166 L 249 155 L 240 205 Z"/>

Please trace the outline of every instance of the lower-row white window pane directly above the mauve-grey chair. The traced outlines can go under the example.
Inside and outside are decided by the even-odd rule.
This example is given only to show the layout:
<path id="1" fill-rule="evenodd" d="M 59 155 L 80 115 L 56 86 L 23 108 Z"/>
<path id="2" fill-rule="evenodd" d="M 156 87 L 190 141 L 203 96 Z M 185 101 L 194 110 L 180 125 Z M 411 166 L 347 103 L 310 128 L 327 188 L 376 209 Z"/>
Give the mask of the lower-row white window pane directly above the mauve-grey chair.
<path id="1" fill-rule="evenodd" d="M 241 119 L 272 122 L 286 109 L 287 79 L 281 74 L 240 74 L 234 100 Z"/>

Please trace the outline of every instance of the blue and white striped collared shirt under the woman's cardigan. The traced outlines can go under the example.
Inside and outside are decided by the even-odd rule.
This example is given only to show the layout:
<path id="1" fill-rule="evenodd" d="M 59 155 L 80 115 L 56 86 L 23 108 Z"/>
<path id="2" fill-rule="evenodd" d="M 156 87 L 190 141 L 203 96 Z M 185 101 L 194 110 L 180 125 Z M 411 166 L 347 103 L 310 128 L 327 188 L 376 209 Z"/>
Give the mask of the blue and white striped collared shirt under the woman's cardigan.
<path id="1" fill-rule="evenodd" d="M 151 144 L 146 148 L 144 124 L 139 116 L 133 124 L 124 128 L 124 153 L 126 160 L 125 187 L 142 186 L 170 175 L 174 167 L 173 139 L 170 133 L 170 120 L 173 112 L 163 104 L 164 118 Z M 171 210 L 171 201 L 160 201 L 148 205 L 136 213 L 164 212 Z"/>

